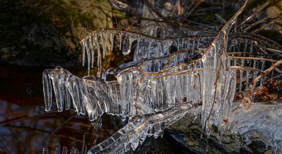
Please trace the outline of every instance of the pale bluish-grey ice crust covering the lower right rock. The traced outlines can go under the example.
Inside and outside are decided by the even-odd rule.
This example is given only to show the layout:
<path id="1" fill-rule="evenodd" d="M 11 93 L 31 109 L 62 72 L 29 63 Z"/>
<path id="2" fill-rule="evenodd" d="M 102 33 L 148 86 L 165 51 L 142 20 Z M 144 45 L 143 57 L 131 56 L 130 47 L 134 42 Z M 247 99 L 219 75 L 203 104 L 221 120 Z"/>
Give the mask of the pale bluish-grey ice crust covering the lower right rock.
<path id="1" fill-rule="evenodd" d="M 274 153 L 282 151 L 282 104 L 255 103 L 249 110 L 240 108 L 234 117 L 230 130 L 239 132 L 247 145 L 260 140 L 266 148 L 272 146 Z"/>

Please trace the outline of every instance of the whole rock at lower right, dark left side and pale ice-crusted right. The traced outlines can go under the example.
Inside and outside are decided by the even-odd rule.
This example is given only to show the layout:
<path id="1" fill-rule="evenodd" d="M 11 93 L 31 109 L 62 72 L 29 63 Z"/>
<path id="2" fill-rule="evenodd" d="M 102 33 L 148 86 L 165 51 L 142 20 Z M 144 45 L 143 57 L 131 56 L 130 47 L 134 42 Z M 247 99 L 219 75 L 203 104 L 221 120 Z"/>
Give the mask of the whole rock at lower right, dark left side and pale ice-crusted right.
<path id="1" fill-rule="evenodd" d="M 275 153 L 282 143 L 279 127 L 282 124 L 281 108 L 280 103 L 253 103 L 249 110 L 240 107 L 232 115 L 226 127 L 230 129 L 225 130 L 221 139 L 217 127 L 213 126 L 208 151 L 207 134 L 203 132 L 203 138 L 200 138 L 202 126 L 197 120 L 193 122 L 191 112 L 173 123 L 168 130 L 175 140 L 198 153 Z"/>

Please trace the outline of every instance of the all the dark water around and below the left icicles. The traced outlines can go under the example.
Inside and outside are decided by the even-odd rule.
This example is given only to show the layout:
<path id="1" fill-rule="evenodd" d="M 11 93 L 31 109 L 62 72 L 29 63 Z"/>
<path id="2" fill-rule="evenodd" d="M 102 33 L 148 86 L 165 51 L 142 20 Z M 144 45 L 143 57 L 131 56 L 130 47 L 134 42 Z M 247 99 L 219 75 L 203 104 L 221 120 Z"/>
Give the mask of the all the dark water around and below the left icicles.
<path id="1" fill-rule="evenodd" d="M 45 69 L 50 67 L 0 64 L 0 153 L 42 153 L 44 147 L 53 153 L 57 142 L 69 152 L 71 147 L 81 151 L 83 143 L 89 150 L 123 127 L 118 117 L 103 115 L 102 129 L 95 130 L 87 116 L 72 110 L 57 112 L 54 98 L 52 111 L 46 112 L 42 86 Z M 85 68 L 70 70 L 82 76 L 81 69 Z M 164 138 L 148 138 L 129 153 L 190 152 L 165 132 Z"/>

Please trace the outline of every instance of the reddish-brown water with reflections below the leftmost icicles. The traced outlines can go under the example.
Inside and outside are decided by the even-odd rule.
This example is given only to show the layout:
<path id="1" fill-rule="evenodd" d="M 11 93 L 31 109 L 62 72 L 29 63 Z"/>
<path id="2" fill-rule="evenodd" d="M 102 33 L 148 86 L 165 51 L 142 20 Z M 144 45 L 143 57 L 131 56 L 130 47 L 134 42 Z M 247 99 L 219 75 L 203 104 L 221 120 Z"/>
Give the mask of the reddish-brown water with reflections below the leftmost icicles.
<path id="1" fill-rule="evenodd" d="M 87 118 L 73 111 L 46 113 L 43 106 L 19 106 L 3 100 L 0 104 L 0 153 L 42 153 L 43 147 L 53 151 L 57 142 L 80 149 L 84 134 L 85 143 L 94 137 Z"/>

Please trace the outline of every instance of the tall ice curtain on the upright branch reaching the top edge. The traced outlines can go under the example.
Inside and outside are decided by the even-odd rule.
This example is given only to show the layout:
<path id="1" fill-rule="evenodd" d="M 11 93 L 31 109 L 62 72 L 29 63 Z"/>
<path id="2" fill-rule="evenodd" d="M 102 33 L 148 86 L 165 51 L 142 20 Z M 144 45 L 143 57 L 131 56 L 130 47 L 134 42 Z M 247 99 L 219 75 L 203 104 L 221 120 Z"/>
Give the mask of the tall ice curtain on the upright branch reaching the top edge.
<path id="1" fill-rule="evenodd" d="M 204 91 L 201 122 L 208 137 L 213 124 L 218 125 L 220 129 L 222 121 L 229 119 L 236 90 L 234 77 L 236 75 L 230 71 L 231 64 L 227 54 L 228 32 L 236 23 L 238 15 L 244 10 L 246 4 L 247 1 L 220 30 L 202 58 Z"/>

